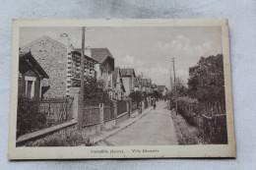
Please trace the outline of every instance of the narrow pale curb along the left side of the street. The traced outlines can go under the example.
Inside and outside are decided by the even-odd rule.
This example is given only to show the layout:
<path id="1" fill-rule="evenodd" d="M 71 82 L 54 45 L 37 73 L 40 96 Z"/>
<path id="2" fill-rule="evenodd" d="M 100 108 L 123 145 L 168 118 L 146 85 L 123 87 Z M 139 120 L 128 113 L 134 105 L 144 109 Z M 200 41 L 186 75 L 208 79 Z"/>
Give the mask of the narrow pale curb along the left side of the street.
<path id="1" fill-rule="evenodd" d="M 142 114 L 140 114 L 136 117 L 129 118 L 127 121 L 132 120 L 132 119 L 134 119 L 134 120 L 132 120 L 130 123 L 127 123 L 127 125 L 124 125 L 123 127 L 119 127 L 117 129 L 113 130 L 112 132 L 102 135 L 101 137 L 93 138 L 93 139 L 91 139 L 91 141 L 94 142 L 94 144 L 96 144 L 97 142 L 102 142 L 102 141 L 108 139 L 109 137 L 119 133 L 120 131 L 122 131 L 122 130 L 126 129 L 127 127 L 131 126 L 132 124 L 136 123 L 138 120 L 140 120 L 141 118 L 146 116 L 152 109 L 153 109 L 153 107 L 146 109 Z"/>

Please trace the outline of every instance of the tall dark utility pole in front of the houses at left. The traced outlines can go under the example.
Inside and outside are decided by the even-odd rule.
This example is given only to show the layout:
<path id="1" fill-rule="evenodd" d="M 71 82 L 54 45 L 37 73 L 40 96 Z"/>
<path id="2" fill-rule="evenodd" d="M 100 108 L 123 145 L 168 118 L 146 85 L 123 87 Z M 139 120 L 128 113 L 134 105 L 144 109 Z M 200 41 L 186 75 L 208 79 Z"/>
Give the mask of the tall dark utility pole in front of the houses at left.
<path id="1" fill-rule="evenodd" d="M 86 28 L 82 28 L 82 52 L 81 52 L 81 58 L 80 58 L 80 97 L 79 97 L 79 107 L 78 107 L 78 128 L 79 130 L 82 129 L 82 124 L 83 124 L 83 112 L 84 112 L 84 92 L 85 92 L 85 33 L 86 33 Z"/>

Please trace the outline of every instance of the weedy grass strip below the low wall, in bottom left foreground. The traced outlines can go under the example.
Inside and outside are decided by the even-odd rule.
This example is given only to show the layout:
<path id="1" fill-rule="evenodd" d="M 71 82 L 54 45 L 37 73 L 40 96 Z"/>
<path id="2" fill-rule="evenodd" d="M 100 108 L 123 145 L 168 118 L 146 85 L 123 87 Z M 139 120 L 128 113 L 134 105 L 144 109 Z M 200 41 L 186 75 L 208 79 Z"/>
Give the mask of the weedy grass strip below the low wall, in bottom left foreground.
<path id="1" fill-rule="evenodd" d="M 76 146 L 83 142 L 81 133 L 77 130 L 57 132 L 35 142 L 28 142 L 26 146 Z"/>

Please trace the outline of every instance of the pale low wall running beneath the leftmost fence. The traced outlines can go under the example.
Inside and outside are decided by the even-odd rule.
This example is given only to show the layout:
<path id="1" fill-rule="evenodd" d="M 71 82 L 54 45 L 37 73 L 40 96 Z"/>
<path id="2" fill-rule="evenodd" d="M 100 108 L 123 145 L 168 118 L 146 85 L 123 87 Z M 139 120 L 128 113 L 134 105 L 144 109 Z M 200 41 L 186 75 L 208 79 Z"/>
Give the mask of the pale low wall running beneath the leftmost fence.
<path id="1" fill-rule="evenodd" d="M 34 142 L 36 140 L 43 139 L 47 136 L 53 135 L 55 133 L 65 133 L 71 129 L 77 129 L 77 121 L 71 120 L 53 127 L 45 128 L 39 131 L 35 131 L 30 134 L 23 135 L 19 137 L 16 141 L 17 146 L 23 146 L 27 142 Z"/>

